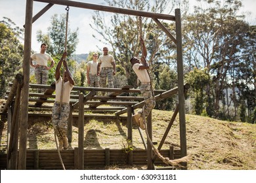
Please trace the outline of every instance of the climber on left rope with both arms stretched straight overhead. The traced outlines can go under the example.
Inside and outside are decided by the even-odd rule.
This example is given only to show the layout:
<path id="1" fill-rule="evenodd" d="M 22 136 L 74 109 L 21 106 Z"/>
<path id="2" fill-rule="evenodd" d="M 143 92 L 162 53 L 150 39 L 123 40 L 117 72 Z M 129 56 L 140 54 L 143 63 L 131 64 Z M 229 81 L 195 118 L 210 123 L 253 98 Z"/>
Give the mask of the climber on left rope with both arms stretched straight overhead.
<path id="1" fill-rule="evenodd" d="M 58 137 L 59 149 L 62 150 L 68 148 L 68 138 L 67 138 L 67 129 L 68 129 L 68 116 L 70 114 L 70 92 L 74 87 L 74 80 L 68 69 L 66 62 L 66 52 L 63 53 L 62 58 L 58 62 L 55 72 L 56 79 L 56 98 L 53 105 L 53 128 L 54 133 Z M 64 82 L 60 76 L 60 67 L 64 65 Z M 62 91 L 62 84 L 63 91 Z M 62 95 L 62 100 L 61 100 Z"/>

